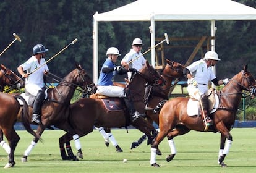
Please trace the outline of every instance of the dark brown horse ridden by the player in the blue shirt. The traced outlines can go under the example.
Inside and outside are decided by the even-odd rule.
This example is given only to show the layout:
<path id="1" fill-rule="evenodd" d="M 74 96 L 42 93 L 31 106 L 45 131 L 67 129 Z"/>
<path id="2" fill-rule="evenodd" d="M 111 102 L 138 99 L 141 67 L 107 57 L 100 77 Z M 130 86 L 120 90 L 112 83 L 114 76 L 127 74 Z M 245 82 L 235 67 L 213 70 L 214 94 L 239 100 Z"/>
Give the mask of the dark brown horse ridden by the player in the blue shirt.
<path id="1" fill-rule="evenodd" d="M 132 80 L 130 80 L 127 88 L 130 89 L 130 92 L 134 96 L 134 106 L 138 112 L 145 112 L 145 84 L 147 82 L 150 84 L 161 83 L 158 80 L 160 77 L 160 74 L 148 64 L 148 61 L 139 72 L 133 74 Z M 122 105 L 124 104 L 122 98 L 117 99 Z M 79 137 L 83 137 L 92 132 L 94 125 L 96 127 L 127 127 L 127 125 L 133 125 L 147 135 L 148 143 L 151 143 L 156 135 L 153 125 L 142 117 L 135 122 L 130 122 L 129 113 L 127 114 L 126 110 L 119 109 L 117 111 L 109 111 L 106 109 L 101 99 L 81 98 L 77 103 L 71 104 L 69 122 L 72 124 Z M 70 133 L 66 133 L 59 138 L 62 159 L 75 158 L 70 146 L 66 146 L 68 156 L 64 150 L 64 144 L 70 145 L 70 140 L 72 140 Z"/>

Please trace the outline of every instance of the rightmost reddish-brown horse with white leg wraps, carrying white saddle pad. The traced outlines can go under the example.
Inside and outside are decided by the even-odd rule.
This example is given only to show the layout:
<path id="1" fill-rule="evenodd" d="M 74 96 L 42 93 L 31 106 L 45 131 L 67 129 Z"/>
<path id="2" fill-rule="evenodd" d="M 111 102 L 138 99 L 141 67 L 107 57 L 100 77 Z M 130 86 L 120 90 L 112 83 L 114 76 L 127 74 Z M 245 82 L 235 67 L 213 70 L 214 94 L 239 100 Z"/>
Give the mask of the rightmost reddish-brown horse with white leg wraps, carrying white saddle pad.
<path id="1" fill-rule="evenodd" d="M 215 112 L 210 114 L 213 119 L 213 125 L 210 126 L 208 132 L 220 132 L 220 151 L 218 156 L 218 163 L 221 167 L 226 167 L 224 158 L 229 153 L 229 148 L 232 143 L 232 135 L 230 130 L 234 125 L 236 119 L 236 112 L 239 108 L 243 90 L 250 91 L 252 96 L 255 96 L 255 79 L 247 70 L 245 65 L 244 70 L 234 75 L 229 83 L 219 91 L 219 105 Z M 159 114 L 160 133 L 155 138 L 151 146 L 150 164 L 153 167 L 159 167 L 156 163 L 156 149 L 164 137 L 168 137 L 171 154 L 166 158 L 166 161 L 171 161 L 175 154 L 176 148 L 174 146 L 173 138 L 177 135 L 184 135 L 190 130 L 203 132 L 205 127 L 201 117 L 187 115 L 187 103 L 189 98 L 174 98 L 170 99 L 164 104 Z M 226 146 L 225 146 L 226 143 Z"/>

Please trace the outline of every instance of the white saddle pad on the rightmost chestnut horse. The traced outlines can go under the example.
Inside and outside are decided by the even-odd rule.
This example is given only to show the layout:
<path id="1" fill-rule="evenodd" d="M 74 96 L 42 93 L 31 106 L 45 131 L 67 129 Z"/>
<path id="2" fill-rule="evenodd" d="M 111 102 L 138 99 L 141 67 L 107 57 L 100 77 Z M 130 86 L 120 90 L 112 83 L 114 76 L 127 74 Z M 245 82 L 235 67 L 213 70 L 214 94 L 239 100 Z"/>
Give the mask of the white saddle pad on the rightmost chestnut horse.
<path id="1" fill-rule="evenodd" d="M 218 105 L 220 103 L 218 95 L 216 94 L 216 91 L 215 91 L 214 96 L 215 96 L 216 102 L 215 102 L 215 105 L 213 106 L 213 109 L 210 110 L 210 114 L 212 114 L 213 112 L 215 112 L 217 110 Z M 199 104 L 199 101 L 189 99 L 189 101 L 187 102 L 187 115 L 188 116 L 198 115 L 198 112 L 200 112 L 199 108 L 198 108 L 198 104 Z"/>

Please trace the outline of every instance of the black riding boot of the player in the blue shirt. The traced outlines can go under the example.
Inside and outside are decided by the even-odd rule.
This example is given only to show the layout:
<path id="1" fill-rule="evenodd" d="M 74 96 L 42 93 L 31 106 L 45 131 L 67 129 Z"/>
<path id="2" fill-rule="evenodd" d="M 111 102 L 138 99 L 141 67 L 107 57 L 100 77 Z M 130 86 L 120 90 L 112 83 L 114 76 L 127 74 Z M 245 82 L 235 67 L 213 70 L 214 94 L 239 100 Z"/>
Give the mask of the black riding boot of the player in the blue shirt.
<path id="1" fill-rule="evenodd" d="M 126 104 L 126 108 L 129 109 L 130 120 L 132 122 L 134 122 L 135 120 L 139 119 L 140 117 L 145 117 L 146 114 L 139 114 L 139 112 L 135 111 L 134 101 L 133 101 L 132 95 L 129 91 L 129 88 L 126 88 L 124 91 L 126 93 L 126 97 L 124 98 L 124 103 Z"/>

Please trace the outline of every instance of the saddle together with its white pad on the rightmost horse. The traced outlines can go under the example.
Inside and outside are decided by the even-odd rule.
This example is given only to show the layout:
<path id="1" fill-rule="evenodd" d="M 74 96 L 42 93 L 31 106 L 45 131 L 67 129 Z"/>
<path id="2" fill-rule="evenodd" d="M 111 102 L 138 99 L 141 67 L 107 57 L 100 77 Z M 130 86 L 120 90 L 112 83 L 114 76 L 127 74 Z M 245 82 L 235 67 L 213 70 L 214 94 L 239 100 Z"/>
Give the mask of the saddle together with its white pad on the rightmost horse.
<path id="1" fill-rule="evenodd" d="M 208 110 L 210 114 L 216 111 L 216 108 L 218 108 L 218 105 L 220 103 L 218 95 L 216 93 L 216 90 L 214 88 L 210 88 L 207 93 L 207 98 L 208 98 Z M 199 106 L 199 101 L 190 98 L 188 103 L 187 103 L 187 115 L 188 116 L 195 116 L 200 114 L 200 106 Z"/>

